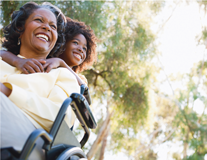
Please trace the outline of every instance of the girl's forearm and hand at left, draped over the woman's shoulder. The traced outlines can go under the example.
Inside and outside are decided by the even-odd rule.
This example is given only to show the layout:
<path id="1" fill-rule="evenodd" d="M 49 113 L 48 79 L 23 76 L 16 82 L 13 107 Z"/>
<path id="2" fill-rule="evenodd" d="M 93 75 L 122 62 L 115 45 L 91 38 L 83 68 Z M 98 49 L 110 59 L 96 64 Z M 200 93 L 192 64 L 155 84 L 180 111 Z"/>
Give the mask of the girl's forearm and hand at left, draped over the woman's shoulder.
<path id="1" fill-rule="evenodd" d="M 46 63 L 45 60 L 36 60 L 36 59 L 23 59 L 9 51 L 0 51 L 0 56 L 2 60 L 10 64 L 11 66 L 16 67 L 25 74 L 44 72 L 43 64 Z"/>

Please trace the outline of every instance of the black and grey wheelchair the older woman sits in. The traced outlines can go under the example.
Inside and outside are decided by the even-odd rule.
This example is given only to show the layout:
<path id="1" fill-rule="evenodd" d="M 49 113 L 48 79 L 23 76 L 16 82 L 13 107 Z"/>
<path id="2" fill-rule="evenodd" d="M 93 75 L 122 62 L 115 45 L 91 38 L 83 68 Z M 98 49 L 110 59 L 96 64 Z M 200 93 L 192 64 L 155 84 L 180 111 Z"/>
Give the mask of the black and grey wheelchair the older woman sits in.
<path id="1" fill-rule="evenodd" d="M 1 148 L 1 160 L 27 160 L 39 137 L 44 141 L 42 149 L 45 152 L 45 160 L 87 160 L 81 148 L 90 136 L 89 128 L 95 129 L 97 124 L 89 107 L 91 98 L 88 87 L 81 85 L 80 88 L 80 94 L 72 93 L 63 102 L 49 133 L 44 129 L 36 129 L 30 134 L 20 152 L 13 147 Z M 64 122 L 69 105 L 84 130 L 80 142 Z"/>

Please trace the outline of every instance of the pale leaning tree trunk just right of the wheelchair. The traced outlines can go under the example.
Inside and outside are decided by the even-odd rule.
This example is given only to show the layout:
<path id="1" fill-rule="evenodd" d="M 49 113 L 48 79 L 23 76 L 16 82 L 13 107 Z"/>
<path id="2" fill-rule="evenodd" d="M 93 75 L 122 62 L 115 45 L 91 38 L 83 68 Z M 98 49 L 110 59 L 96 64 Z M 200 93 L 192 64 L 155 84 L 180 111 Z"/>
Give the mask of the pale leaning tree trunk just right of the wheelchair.
<path id="1" fill-rule="evenodd" d="M 103 140 L 103 138 L 105 137 L 105 134 L 107 133 L 107 128 L 109 125 L 109 122 L 111 120 L 111 116 L 113 113 L 108 113 L 107 117 L 102 125 L 102 127 L 100 128 L 98 135 L 96 137 L 96 140 L 94 141 L 93 145 L 91 146 L 90 150 L 87 153 L 87 158 L 88 160 L 91 160 L 91 158 L 95 155 L 95 153 L 97 152 L 98 146 L 101 143 L 101 141 Z"/>

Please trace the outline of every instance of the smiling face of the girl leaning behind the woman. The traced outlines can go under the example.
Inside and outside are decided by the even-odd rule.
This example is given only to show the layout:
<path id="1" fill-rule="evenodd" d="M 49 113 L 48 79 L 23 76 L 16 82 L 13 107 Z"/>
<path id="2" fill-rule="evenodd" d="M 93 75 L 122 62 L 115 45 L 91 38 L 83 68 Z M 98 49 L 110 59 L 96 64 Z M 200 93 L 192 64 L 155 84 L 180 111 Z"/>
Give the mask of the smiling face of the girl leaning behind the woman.
<path id="1" fill-rule="evenodd" d="M 72 40 L 66 42 L 66 48 L 60 55 L 68 66 L 78 66 L 86 59 L 87 40 L 82 34 L 76 35 Z"/>

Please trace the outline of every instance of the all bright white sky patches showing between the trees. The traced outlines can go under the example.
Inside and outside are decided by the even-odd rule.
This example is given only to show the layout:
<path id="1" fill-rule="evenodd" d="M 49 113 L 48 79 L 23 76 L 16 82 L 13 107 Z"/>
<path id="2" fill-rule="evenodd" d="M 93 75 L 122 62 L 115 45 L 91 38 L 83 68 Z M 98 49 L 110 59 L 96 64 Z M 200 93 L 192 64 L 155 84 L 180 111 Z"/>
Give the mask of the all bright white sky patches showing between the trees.
<path id="1" fill-rule="evenodd" d="M 202 27 L 206 25 L 207 19 L 202 16 L 203 13 L 195 1 L 188 2 L 188 4 L 180 2 L 172 14 L 175 4 L 172 1 L 167 1 L 165 9 L 154 19 L 155 24 L 152 30 L 156 32 L 157 24 L 165 22 L 172 14 L 164 28 L 159 32 L 156 41 L 160 52 L 160 65 L 163 66 L 168 76 L 170 74 L 189 73 L 194 63 L 203 58 L 207 60 L 205 46 L 198 46 L 196 39 L 201 34 Z M 165 74 L 161 72 L 160 78 L 163 77 L 165 77 Z M 171 92 L 169 84 L 163 84 L 162 87 L 164 92 Z M 174 85 L 173 87 L 178 86 Z M 199 101 L 195 103 L 195 106 L 198 108 L 198 112 L 204 108 Z M 179 152 L 179 150 L 182 150 L 178 147 L 179 145 L 165 143 L 157 146 L 155 150 L 158 153 L 158 160 L 173 160 L 170 151 Z M 192 154 L 192 151 L 189 154 Z M 128 160 L 123 153 L 112 155 L 110 152 L 105 154 L 105 159 Z M 207 155 L 205 160 L 207 160 Z"/>

